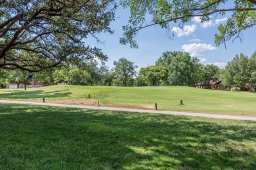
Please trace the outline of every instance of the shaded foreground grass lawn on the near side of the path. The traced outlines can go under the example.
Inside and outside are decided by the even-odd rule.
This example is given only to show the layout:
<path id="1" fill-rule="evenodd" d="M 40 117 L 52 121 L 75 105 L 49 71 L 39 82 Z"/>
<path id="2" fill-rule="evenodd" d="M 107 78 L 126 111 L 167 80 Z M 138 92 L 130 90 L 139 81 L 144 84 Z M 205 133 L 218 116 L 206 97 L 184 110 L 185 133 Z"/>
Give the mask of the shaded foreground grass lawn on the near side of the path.
<path id="1" fill-rule="evenodd" d="M 255 169 L 256 122 L 0 104 L 0 169 Z"/>

